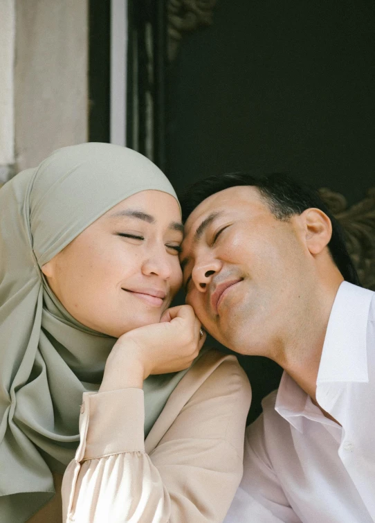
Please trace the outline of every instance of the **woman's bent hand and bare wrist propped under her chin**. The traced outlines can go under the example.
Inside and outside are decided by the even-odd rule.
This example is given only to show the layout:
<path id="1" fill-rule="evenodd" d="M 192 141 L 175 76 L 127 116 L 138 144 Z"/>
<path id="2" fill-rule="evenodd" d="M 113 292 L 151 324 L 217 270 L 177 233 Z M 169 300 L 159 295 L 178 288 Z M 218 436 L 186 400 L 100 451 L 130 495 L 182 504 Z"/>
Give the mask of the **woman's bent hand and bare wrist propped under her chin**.
<path id="1" fill-rule="evenodd" d="M 182 371 L 199 354 L 205 334 L 190 305 L 165 311 L 160 323 L 130 330 L 113 346 L 99 391 L 143 387 L 150 374 Z"/>

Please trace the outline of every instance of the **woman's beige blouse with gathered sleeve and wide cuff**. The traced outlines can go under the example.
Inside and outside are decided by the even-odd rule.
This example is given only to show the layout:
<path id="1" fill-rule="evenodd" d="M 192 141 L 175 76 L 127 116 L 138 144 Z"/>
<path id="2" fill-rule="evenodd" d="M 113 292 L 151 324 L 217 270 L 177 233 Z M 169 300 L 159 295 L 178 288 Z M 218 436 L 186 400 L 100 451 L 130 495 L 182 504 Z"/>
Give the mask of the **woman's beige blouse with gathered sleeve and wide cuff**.
<path id="1" fill-rule="evenodd" d="M 241 481 L 250 397 L 244 371 L 225 357 L 146 454 L 143 391 L 85 393 L 64 523 L 222 522 Z"/>

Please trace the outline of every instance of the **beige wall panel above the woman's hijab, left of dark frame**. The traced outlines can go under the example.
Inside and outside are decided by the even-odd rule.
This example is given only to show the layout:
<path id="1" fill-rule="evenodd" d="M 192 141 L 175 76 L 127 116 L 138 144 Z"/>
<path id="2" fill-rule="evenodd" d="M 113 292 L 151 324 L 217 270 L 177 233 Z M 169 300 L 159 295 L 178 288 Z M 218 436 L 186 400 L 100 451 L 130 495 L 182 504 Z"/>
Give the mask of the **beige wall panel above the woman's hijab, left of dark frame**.
<path id="1" fill-rule="evenodd" d="M 88 0 L 16 0 L 17 169 L 87 141 Z"/>

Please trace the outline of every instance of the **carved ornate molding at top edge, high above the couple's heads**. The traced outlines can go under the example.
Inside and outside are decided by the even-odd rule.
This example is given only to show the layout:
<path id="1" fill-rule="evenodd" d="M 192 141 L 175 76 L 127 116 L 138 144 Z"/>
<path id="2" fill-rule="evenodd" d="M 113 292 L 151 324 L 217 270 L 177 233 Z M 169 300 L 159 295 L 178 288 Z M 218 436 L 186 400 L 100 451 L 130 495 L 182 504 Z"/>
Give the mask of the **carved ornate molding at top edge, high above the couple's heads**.
<path id="1" fill-rule="evenodd" d="M 186 33 L 212 24 L 217 0 L 168 0 L 168 60 L 172 62 Z"/>

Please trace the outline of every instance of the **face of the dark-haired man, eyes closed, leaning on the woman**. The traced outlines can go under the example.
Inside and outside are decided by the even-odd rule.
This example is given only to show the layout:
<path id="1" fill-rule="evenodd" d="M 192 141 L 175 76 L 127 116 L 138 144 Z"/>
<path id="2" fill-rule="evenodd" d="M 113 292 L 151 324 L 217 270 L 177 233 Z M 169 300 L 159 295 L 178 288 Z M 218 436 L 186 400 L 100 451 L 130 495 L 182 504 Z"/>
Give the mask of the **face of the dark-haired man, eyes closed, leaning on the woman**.
<path id="1" fill-rule="evenodd" d="M 259 355 L 282 343 L 303 294 L 302 236 L 299 216 L 277 220 L 255 187 L 221 190 L 194 209 L 181 254 L 186 302 L 219 342 Z"/>

